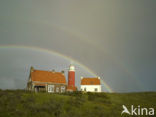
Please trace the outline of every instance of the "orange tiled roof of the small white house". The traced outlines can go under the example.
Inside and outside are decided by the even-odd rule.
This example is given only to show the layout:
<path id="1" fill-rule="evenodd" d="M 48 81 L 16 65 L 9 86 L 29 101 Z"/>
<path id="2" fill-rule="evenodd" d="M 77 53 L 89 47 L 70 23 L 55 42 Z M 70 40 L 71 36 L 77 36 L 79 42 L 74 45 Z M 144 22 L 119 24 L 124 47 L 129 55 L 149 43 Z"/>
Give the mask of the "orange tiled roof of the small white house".
<path id="1" fill-rule="evenodd" d="M 81 79 L 81 85 L 100 85 L 99 78 L 83 78 Z"/>

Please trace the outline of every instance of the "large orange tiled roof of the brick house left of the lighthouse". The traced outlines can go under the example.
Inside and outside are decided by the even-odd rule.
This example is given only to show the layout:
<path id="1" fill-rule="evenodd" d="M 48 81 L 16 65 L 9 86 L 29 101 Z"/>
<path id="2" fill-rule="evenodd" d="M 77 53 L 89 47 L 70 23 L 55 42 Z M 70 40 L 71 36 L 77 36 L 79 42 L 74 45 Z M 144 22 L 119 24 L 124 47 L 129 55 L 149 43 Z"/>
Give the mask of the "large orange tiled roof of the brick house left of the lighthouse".
<path id="1" fill-rule="evenodd" d="M 33 70 L 31 79 L 32 81 L 66 84 L 66 78 L 61 72 Z"/>

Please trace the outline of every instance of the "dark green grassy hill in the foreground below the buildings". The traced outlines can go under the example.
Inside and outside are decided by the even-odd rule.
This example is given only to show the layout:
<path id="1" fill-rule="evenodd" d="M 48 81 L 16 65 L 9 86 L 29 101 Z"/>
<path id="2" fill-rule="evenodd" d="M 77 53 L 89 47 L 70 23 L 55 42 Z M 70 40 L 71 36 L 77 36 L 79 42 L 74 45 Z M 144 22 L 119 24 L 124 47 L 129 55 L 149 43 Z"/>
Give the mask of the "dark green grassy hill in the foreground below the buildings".
<path id="1" fill-rule="evenodd" d="M 122 105 L 156 109 L 156 93 L 48 94 L 0 90 L 0 117 L 120 117 Z"/>

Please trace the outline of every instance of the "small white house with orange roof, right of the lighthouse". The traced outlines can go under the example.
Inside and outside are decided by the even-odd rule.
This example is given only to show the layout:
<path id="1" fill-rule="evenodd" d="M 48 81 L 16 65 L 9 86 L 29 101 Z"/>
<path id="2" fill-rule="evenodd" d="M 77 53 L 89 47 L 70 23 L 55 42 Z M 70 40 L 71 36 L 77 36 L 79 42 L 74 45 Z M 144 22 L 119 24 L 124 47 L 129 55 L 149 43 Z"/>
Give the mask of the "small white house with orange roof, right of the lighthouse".
<path id="1" fill-rule="evenodd" d="M 81 77 L 81 91 L 101 92 L 100 77 L 97 77 L 97 78 Z"/>

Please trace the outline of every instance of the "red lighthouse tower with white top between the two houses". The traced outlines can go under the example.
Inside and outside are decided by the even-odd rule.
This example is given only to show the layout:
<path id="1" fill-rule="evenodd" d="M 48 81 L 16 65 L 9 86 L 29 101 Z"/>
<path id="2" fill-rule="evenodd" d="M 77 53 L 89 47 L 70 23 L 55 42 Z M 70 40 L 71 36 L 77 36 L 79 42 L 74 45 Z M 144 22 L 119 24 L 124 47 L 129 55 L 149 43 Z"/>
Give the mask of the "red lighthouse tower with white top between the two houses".
<path id="1" fill-rule="evenodd" d="M 74 65 L 69 66 L 67 91 L 76 91 L 76 87 L 75 87 L 75 67 L 74 67 Z"/>

